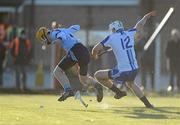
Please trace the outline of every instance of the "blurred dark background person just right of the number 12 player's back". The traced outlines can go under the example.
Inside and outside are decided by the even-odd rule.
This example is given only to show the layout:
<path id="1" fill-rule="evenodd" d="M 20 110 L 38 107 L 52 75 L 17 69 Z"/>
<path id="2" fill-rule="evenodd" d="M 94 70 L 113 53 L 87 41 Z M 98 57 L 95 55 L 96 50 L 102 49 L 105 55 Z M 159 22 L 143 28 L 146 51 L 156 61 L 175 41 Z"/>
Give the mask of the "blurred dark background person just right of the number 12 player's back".
<path id="1" fill-rule="evenodd" d="M 151 90 L 154 90 L 154 46 L 155 44 L 149 47 L 148 50 L 144 51 L 144 45 L 146 44 L 149 38 L 148 32 L 144 30 L 144 36 L 140 42 L 136 44 L 136 51 L 138 60 L 140 61 L 141 69 L 141 83 L 142 89 L 147 89 L 147 84 L 150 83 Z M 149 80 L 148 80 L 149 78 Z"/>

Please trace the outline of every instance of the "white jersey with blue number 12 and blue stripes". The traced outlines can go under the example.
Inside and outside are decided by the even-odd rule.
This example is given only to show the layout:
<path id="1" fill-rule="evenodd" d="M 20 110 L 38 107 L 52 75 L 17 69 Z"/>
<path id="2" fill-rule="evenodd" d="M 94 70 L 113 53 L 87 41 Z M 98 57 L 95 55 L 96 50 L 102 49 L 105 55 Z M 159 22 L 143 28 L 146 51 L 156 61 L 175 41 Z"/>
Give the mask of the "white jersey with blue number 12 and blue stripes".
<path id="1" fill-rule="evenodd" d="M 117 67 L 120 72 L 138 69 L 134 50 L 135 33 L 135 28 L 128 31 L 117 31 L 106 37 L 101 42 L 104 47 L 112 48 L 117 61 Z"/>

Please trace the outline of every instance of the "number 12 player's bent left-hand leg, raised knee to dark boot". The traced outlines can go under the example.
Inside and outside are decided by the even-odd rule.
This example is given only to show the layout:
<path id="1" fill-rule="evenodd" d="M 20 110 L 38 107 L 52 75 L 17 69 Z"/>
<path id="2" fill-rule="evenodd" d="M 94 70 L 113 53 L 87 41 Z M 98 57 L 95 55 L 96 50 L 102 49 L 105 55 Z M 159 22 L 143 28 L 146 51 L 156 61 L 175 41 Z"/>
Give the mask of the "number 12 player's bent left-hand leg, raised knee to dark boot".
<path id="1" fill-rule="evenodd" d="M 99 70 L 94 74 L 94 77 L 101 84 L 103 84 L 105 87 L 109 88 L 110 90 L 112 90 L 115 93 L 115 96 L 114 96 L 115 99 L 120 99 L 120 98 L 126 96 L 127 94 L 125 91 L 121 91 L 111 82 L 111 80 L 108 77 L 108 71 L 109 70 Z"/>

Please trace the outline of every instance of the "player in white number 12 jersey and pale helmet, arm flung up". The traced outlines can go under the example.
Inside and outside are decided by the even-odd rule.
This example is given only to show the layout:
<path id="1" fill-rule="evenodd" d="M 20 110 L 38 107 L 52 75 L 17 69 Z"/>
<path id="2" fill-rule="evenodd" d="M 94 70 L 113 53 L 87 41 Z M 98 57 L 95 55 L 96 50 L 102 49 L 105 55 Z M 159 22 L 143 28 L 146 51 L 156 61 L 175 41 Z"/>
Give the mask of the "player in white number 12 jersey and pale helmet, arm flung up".
<path id="1" fill-rule="evenodd" d="M 153 108 L 145 97 L 144 93 L 134 82 L 138 72 L 138 64 L 134 51 L 135 41 L 139 41 L 143 36 L 143 26 L 147 19 L 155 16 L 155 11 L 146 14 L 136 25 L 130 30 L 125 31 L 121 21 L 114 21 L 109 25 L 112 34 L 107 36 L 102 42 L 94 46 L 92 56 L 98 58 L 99 52 L 105 48 L 111 48 L 116 61 L 117 67 L 114 69 L 99 70 L 95 73 L 95 78 L 115 93 L 114 98 L 120 99 L 126 96 L 125 91 L 119 90 L 112 81 L 120 84 L 126 84 L 137 97 L 144 103 L 147 108 Z"/>

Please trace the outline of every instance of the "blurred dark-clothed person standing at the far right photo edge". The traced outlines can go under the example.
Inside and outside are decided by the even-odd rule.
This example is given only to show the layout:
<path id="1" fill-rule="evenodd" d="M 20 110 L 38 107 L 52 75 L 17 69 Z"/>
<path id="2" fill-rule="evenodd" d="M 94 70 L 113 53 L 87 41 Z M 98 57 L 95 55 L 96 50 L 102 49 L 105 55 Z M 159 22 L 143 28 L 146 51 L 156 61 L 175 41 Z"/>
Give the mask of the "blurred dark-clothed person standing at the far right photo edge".
<path id="1" fill-rule="evenodd" d="M 180 33 L 177 29 L 171 30 L 171 39 L 166 47 L 167 70 L 170 71 L 170 81 L 167 88 L 173 91 L 175 83 L 180 91 Z M 176 78 L 176 82 L 174 82 Z"/>

